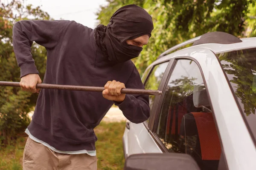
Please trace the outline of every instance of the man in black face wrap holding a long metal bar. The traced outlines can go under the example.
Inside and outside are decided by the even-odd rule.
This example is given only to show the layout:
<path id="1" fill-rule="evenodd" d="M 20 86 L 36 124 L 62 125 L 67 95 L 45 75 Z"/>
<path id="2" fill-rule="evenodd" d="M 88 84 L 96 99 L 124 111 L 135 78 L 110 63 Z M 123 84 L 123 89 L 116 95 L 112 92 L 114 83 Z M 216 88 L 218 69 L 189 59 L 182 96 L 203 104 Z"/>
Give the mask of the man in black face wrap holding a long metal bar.
<path id="1" fill-rule="evenodd" d="M 123 6 L 108 26 L 94 30 L 67 20 L 15 23 L 13 47 L 23 90 L 40 91 L 35 88 L 41 79 L 30 52 L 33 41 L 47 49 L 44 83 L 105 86 L 102 93 L 41 89 L 26 129 L 24 170 L 96 170 L 93 129 L 113 104 L 134 123 L 148 119 L 148 96 L 120 90 L 144 88 L 130 59 L 140 54 L 152 30 L 151 16 L 136 5 Z"/>

